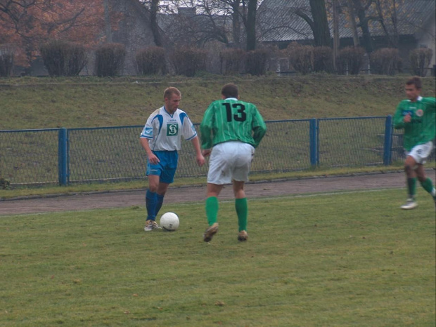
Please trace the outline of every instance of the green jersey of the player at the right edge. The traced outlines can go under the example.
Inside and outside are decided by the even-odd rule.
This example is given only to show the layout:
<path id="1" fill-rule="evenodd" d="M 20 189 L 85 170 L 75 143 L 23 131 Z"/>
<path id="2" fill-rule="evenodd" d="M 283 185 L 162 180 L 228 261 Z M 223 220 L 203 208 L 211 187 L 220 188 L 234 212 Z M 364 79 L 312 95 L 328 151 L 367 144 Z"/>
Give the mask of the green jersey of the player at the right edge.
<path id="1" fill-rule="evenodd" d="M 394 128 L 404 128 L 404 149 L 432 141 L 436 135 L 435 98 L 418 97 L 416 102 L 399 102 L 394 115 Z M 411 121 L 404 123 L 404 116 L 410 114 Z"/>

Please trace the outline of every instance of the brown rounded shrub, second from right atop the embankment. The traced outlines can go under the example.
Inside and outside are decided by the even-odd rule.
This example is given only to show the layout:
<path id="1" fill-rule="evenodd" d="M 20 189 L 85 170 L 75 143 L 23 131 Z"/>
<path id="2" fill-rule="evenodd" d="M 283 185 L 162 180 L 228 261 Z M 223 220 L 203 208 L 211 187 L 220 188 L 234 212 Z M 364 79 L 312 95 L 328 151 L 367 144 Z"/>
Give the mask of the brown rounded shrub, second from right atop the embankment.
<path id="1" fill-rule="evenodd" d="M 395 75 L 401 65 L 401 58 L 398 49 L 381 48 L 371 53 L 369 63 L 373 74 Z"/>

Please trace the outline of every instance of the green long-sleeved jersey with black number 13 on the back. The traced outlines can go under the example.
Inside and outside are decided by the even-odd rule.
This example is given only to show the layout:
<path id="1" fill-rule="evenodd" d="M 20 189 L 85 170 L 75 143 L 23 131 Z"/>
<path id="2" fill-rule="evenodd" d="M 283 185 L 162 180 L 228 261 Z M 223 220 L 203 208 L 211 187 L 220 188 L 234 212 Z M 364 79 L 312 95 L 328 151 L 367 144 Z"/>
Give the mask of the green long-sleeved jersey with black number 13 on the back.
<path id="1" fill-rule="evenodd" d="M 255 105 L 236 98 L 218 100 L 206 109 L 200 124 L 201 147 L 210 149 L 227 141 L 257 147 L 266 132 L 267 126 Z"/>

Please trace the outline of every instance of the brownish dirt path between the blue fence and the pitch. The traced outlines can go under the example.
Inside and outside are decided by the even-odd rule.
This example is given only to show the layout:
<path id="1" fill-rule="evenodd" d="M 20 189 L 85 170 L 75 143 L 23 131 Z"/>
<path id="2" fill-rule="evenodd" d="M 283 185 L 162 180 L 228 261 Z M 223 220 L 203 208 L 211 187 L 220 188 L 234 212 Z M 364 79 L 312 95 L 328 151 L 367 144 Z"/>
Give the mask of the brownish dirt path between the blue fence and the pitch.
<path id="1" fill-rule="evenodd" d="M 436 171 L 428 171 L 433 181 Z M 353 189 L 389 189 L 405 187 L 404 173 L 378 173 L 347 177 L 306 178 L 278 182 L 248 183 L 245 192 L 248 198 L 284 196 L 317 192 L 338 192 Z M 198 202 L 205 199 L 205 187 L 170 188 L 165 203 Z M 76 194 L 69 196 L 46 196 L 38 199 L 15 199 L 0 201 L 0 215 L 45 213 L 53 211 L 82 211 L 96 208 L 120 208 L 144 206 L 145 190 Z M 231 186 L 224 187 L 220 199 L 232 199 Z"/>

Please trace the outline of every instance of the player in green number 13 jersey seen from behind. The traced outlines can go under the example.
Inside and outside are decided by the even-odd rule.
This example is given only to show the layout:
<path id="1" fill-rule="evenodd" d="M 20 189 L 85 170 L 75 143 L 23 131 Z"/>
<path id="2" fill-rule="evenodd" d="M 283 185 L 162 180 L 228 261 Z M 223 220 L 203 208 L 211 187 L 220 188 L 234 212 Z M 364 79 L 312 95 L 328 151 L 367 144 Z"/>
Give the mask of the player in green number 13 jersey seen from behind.
<path id="1" fill-rule="evenodd" d="M 209 242 L 218 232 L 218 196 L 224 184 L 233 184 L 238 241 L 247 241 L 248 205 L 244 183 L 248 181 L 255 147 L 267 132 L 257 107 L 238 100 L 238 87 L 222 87 L 222 100 L 212 102 L 200 124 L 203 156 L 210 155 L 207 173 L 206 216 L 209 227 L 203 240 Z"/>

